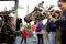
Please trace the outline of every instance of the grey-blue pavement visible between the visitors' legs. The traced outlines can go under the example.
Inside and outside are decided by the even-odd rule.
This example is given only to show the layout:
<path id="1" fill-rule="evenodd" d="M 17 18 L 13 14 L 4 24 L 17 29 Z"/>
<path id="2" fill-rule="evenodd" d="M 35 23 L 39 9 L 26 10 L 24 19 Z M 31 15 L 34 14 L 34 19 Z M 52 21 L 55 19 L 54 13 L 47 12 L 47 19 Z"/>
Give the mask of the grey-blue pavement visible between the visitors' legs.
<path id="1" fill-rule="evenodd" d="M 15 40 L 15 44 L 21 44 L 21 36 L 18 36 Z M 22 44 L 24 44 L 24 41 L 23 41 L 23 43 Z M 28 37 L 26 38 L 26 44 L 37 44 L 37 37 Z M 47 43 L 47 40 L 46 38 L 44 38 L 44 44 L 48 44 Z"/>

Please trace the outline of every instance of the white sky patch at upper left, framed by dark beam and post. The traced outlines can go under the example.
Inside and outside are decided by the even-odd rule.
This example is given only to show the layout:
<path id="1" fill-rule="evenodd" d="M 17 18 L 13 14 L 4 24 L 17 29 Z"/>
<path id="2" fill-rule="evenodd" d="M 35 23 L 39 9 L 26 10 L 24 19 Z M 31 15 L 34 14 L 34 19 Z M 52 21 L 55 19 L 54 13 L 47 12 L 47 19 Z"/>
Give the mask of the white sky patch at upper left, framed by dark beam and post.
<path id="1" fill-rule="evenodd" d="M 0 1 L 0 12 L 7 10 L 11 10 L 14 7 L 14 1 Z"/>

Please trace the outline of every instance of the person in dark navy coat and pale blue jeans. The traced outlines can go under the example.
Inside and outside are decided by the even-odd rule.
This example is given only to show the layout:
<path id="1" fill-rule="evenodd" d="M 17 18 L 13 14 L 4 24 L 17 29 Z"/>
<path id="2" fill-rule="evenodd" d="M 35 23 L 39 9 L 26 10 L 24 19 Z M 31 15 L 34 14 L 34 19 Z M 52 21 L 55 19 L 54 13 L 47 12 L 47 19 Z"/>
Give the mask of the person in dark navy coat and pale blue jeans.
<path id="1" fill-rule="evenodd" d="M 48 32 L 48 43 L 55 44 L 55 36 L 56 36 L 56 25 L 54 18 L 50 18 L 47 21 L 47 32 Z"/>

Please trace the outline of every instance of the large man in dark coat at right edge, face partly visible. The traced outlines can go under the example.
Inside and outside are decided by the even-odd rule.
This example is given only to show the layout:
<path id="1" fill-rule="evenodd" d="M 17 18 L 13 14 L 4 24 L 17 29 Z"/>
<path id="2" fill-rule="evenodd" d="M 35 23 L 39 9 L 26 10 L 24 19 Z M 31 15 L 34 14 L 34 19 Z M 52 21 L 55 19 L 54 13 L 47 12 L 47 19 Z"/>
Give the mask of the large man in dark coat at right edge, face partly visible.
<path id="1" fill-rule="evenodd" d="M 61 24 L 62 30 L 62 44 L 66 44 L 66 0 L 59 0 L 58 7 L 62 10 Z"/>

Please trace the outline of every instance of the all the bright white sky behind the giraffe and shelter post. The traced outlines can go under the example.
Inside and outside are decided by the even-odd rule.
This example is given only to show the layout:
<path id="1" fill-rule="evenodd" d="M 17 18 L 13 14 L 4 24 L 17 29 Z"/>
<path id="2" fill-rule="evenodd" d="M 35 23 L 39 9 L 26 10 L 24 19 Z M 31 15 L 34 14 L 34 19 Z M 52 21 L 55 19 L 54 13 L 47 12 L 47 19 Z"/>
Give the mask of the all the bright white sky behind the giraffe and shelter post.
<path id="1" fill-rule="evenodd" d="M 19 0 L 19 7 L 18 8 L 18 16 L 20 16 L 23 21 L 23 24 L 26 24 L 24 22 L 24 16 L 28 13 L 31 13 L 34 9 L 35 6 L 37 6 L 38 3 L 41 3 L 42 1 L 44 1 L 44 7 L 50 7 L 50 6 L 54 6 L 55 9 L 58 9 L 57 7 L 57 1 L 58 0 Z M 6 2 L 6 1 L 0 1 L 0 12 L 4 11 L 4 8 L 7 8 L 7 10 L 11 10 L 12 7 L 14 7 L 14 2 Z M 29 12 L 28 12 L 28 7 L 29 7 Z M 46 22 L 46 20 L 44 21 Z"/>

